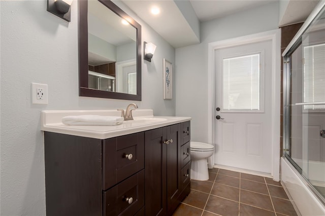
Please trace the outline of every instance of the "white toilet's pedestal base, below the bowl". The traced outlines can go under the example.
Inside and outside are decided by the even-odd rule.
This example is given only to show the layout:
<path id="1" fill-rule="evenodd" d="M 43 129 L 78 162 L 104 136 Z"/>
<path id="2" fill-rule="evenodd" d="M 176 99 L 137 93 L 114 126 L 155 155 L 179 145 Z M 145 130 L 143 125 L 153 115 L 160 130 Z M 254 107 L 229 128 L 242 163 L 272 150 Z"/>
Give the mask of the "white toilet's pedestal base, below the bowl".
<path id="1" fill-rule="evenodd" d="M 191 179 L 197 181 L 207 181 L 209 179 L 208 163 L 206 158 L 199 160 L 193 160 L 192 158 Z"/>

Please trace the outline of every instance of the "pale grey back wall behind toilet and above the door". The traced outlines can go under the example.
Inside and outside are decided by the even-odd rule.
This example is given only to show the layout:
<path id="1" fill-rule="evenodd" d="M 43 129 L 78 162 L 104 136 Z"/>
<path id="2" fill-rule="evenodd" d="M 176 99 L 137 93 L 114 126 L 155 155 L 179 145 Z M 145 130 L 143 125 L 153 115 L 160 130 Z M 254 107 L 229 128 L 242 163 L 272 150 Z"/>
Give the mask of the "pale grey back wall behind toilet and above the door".
<path id="1" fill-rule="evenodd" d="M 208 44 L 277 29 L 278 7 L 276 2 L 202 22 L 201 44 L 176 49 L 176 116 L 192 117 L 191 140 L 208 142 Z"/>

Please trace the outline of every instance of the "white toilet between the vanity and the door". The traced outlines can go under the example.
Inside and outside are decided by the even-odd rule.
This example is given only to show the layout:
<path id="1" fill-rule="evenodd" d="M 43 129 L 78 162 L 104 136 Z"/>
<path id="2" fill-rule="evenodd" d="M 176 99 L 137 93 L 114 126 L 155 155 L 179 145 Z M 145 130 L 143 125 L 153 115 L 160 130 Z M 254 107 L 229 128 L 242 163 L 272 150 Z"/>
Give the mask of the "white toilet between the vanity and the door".
<path id="1" fill-rule="evenodd" d="M 191 179 L 207 181 L 209 179 L 207 159 L 213 157 L 214 146 L 204 142 L 190 141 L 190 151 Z"/>

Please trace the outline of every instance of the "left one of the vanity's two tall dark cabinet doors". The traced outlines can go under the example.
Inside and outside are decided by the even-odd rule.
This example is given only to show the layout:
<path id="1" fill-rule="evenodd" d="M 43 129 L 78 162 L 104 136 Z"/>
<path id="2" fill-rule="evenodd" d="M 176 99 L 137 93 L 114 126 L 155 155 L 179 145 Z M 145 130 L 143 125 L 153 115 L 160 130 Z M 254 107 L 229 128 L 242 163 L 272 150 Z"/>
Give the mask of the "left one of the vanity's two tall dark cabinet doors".
<path id="1" fill-rule="evenodd" d="M 167 214 L 166 153 L 167 128 L 145 132 L 145 213 Z"/>

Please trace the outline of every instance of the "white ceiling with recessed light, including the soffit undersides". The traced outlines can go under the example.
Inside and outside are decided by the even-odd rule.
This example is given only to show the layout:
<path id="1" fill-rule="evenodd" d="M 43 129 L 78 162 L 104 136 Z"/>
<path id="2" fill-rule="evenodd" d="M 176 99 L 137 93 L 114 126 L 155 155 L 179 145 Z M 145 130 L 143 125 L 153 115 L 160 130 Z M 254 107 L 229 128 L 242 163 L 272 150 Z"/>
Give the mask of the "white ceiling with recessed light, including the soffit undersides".
<path id="1" fill-rule="evenodd" d="M 240 11 L 274 3 L 278 0 L 121 1 L 157 31 L 174 48 L 179 48 L 200 43 L 199 31 L 196 32 L 195 27 L 196 21 L 199 23 L 217 19 Z M 183 5 L 187 4 L 185 13 L 179 7 L 180 3 Z M 279 26 L 305 21 L 317 3 L 318 1 L 314 0 L 281 0 L 280 5 L 284 5 L 284 15 L 279 19 Z M 160 14 L 152 15 L 150 13 L 152 6 L 160 8 Z M 190 13 L 191 10 L 194 13 Z"/>

